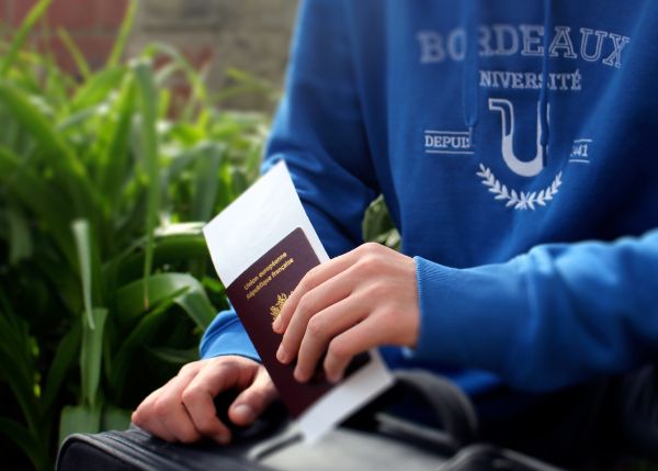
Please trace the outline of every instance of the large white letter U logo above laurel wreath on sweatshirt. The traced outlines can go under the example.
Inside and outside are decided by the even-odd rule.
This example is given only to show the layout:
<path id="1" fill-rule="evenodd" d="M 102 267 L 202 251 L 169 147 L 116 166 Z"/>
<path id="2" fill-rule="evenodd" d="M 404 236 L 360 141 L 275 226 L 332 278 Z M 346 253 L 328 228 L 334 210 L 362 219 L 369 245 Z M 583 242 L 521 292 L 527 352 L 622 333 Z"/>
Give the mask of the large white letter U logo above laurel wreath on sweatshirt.
<path id="1" fill-rule="evenodd" d="M 544 149 L 542 148 L 542 123 L 540 122 L 540 103 L 537 103 L 537 153 L 530 161 L 519 159 L 514 154 L 514 106 L 509 100 L 489 99 L 489 110 L 499 111 L 502 128 L 500 152 L 502 159 L 514 173 L 521 177 L 534 177 L 544 168 Z M 546 110 L 548 113 L 548 110 Z"/>

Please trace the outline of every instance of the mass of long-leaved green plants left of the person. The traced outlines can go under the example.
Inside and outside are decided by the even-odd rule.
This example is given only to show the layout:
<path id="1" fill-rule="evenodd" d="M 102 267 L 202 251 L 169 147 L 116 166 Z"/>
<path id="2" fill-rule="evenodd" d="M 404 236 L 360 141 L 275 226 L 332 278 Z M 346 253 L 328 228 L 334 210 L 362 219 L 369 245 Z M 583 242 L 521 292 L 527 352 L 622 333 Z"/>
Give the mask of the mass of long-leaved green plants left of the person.
<path id="1" fill-rule="evenodd" d="M 266 134 L 170 47 L 121 60 L 136 2 L 101 70 L 59 32 L 77 81 L 25 47 L 49 3 L 0 43 L 0 433 L 35 469 L 57 436 L 127 426 L 196 356 L 225 306 L 201 229 L 257 178 Z M 177 74 L 191 96 L 172 119 Z"/>

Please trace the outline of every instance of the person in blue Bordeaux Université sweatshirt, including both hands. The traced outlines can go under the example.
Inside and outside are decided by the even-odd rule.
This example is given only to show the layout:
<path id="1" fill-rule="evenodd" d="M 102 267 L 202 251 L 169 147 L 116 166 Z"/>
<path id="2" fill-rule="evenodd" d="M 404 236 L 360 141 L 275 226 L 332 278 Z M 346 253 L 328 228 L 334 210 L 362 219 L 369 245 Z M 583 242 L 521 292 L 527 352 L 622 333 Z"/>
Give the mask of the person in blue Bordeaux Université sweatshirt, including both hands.
<path id="1" fill-rule="evenodd" d="M 640 0 L 303 1 L 262 171 L 286 161 L 332 259 L 286 302 L 279 360 L 307 381 L 327 351 L 338 381 L 377 347 L 454 380 L 494 437 L 581 437 L 591 385 L 658 354 L 656 24 Z M 363 244 L 379 193 L 399 253 Z M 201 357 L 136 425 L 226 444 L 214 396 L 242 391 L 238 425 L 275 399 L 235 312 Z"/>

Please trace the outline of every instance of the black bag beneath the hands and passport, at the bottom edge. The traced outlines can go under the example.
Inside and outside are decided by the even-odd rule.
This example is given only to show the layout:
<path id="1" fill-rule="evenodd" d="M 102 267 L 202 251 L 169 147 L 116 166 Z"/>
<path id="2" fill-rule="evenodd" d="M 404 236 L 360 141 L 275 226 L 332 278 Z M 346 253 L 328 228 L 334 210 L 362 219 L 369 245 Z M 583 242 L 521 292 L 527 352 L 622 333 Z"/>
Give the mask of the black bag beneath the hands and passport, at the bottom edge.
<path id="1" fill-rule="evenodd" d="M 429 418 L 440 428 L 382 412 L 400 394 L 427 404 Z M 225 408 L 225 404 L 218 407 Z M 313 446 L 300 440 L 280 405 L 253 426 L 234 431 L 236 439 L 226 447 L 170 444 L 134 426 L 75 434 L 59 449 L 57 470 L 557 471 L 522 453 L 480 442 L 468 399 L 449 381 L 424 371 L 396 373 L 393 390 Z"/>

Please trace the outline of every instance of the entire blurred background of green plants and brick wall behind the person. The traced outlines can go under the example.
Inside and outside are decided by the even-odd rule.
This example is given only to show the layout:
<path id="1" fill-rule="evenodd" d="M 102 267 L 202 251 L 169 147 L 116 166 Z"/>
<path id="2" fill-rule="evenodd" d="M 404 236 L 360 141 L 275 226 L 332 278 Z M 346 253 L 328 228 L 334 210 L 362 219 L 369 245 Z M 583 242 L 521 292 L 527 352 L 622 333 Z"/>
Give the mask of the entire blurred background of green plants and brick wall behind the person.
<path id="1" fill-rule="evenodd" d="M 203 225 L 259 176 L 293 0 L 0 0 L 0 456 L 124 429 L 227 306 Z M 382 201 L 364 238 L 399 246 Z"/>

